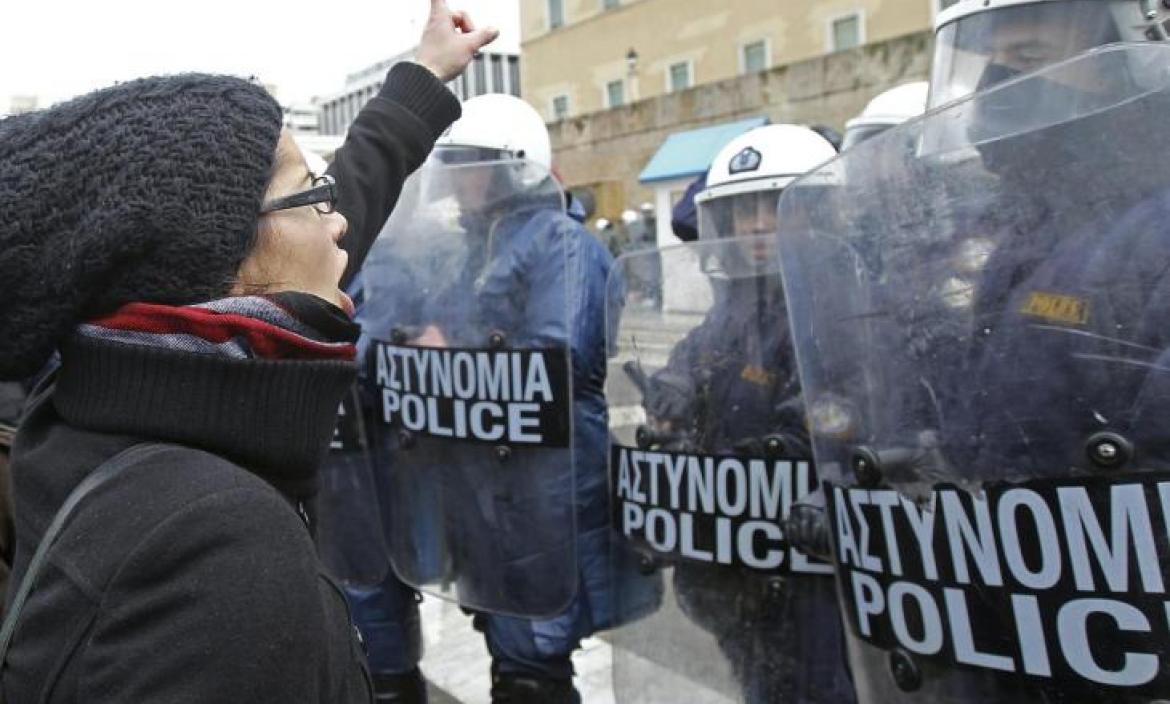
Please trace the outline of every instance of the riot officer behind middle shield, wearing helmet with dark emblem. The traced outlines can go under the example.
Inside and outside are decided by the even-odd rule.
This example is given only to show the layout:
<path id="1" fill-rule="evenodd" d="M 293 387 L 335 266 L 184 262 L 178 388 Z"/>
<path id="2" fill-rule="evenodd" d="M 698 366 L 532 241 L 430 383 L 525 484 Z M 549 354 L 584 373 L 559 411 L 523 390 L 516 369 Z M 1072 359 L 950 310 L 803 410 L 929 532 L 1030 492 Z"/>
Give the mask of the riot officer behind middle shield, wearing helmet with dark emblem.
<path id="1" fill-rule="evenodd" d="M 789 550 L 779 529 L 787 504 L 815 479 L 777 276 L 776 207 L 790 181 L 834 154 L 794 125 L 728 144 L 695 199 L 700 241 L 660 253 L 666 312 L 624 318 L 620 353 L 634 357 L 627 368 L 645 391 L 646 422 L 636 447 L 626 444 L 631 429 L 620 419 L 614 428 L 617 532 L 673 573 L 679 610 L 709 635 L 672 620 L 669 602 L 619 630 L 619 700 L 698 700 L 703 686 L 748 703 L 853 699 L 827 565 Z M 636 263 L 620 260 L 624 269 Z M 704 308 L 696 325 L 689 310 Z M 640 340 L 651 329 L 665 337 L 665 364 Z M 695 486 L 707 482 L 704 506 Z M 762 508 L 763 485 L 783 486 L 770 495 L 771 511 Z M 703 644 L 710 637 L 716 653 Z M 638 658 L 675 672 L 634 670 Z"/>

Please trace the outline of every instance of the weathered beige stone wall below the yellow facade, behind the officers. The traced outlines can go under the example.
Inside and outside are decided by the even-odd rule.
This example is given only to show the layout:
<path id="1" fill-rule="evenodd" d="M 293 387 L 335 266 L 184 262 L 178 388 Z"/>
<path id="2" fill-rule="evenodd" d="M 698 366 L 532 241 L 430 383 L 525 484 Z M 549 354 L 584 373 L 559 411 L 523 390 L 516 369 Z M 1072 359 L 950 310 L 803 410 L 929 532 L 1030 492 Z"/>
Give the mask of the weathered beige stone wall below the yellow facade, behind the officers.
<path id="1" fill-rule="evenodd" d="M 842 130 L 878 94 L 927 80 L 931 46 L 930 32 L 918 32 L 562 120 L 549 125 L 553 160 L 570 187 L 604 191 L 597 216 L 614 219 L 653 202 L 638 174 L 672 132 L 756 116 Z"/>

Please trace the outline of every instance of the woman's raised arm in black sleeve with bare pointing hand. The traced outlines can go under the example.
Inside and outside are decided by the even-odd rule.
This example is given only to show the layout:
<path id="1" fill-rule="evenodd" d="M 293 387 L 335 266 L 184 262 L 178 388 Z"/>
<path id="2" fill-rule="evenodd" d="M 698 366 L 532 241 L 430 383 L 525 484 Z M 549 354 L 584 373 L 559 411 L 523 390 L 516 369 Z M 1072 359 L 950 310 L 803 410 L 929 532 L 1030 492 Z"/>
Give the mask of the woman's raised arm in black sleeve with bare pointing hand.
<path id="1" fill-rule="evenodd" d="M 406 178 L 426 160 L 435 140 L 459 119 L 460 105 L 445 87 L 498 33 L 476 29 L 463 12 L 432 0 L 417 62 L 390 70 L 337 150 L 328 173 L 339 186 L 337 209 L 350 222 L 342 248 L 350 255 L 342 288 L 362 268 Z"/>

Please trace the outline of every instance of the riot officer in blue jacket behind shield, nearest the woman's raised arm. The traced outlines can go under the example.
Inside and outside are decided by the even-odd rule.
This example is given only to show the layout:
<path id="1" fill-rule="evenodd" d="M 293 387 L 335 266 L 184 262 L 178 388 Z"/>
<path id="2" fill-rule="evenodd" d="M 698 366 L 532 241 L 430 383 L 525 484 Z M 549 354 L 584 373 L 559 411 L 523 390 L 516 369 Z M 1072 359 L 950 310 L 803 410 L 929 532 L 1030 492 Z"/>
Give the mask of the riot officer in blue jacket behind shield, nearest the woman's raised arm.
<path id="1" fill-rule="evenodd" d="M 544 123 L 473 98 L 363 271 L 374 472 L 395 574 L 475 613 L 494 702 L 576 702 L 608 624 L 604 288 Z"/>

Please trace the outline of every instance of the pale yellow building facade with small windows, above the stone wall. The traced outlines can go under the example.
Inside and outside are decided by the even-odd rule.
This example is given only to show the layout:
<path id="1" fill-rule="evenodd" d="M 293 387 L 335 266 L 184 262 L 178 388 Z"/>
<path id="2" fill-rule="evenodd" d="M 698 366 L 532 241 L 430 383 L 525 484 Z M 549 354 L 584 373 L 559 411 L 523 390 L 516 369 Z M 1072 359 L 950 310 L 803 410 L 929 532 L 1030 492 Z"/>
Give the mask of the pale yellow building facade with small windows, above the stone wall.
<path id="1" fill-rule="evenodd" d="M 834 18 L 860 12 L 863 40 L 929 29 L 931 0 L 563 0 L 565 26 L 549 30 L 548 0 L 521 0 L 524 97 L 551 119 L 552 98 L 570 115 L 604 109 L 605 85 L 626 81 L 628 101 L 667 92 L 673 63 L 689 61 L 694 84 L 742 73 L 742 47 L 766 40 L 771 65 L 825 54 Z M 638 51 L 631 75 L 626 54 Z"/>

